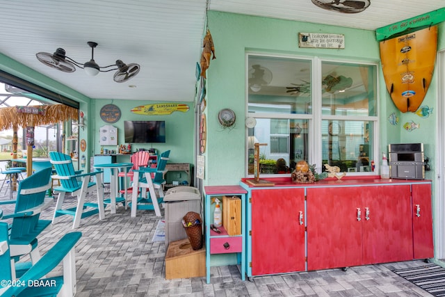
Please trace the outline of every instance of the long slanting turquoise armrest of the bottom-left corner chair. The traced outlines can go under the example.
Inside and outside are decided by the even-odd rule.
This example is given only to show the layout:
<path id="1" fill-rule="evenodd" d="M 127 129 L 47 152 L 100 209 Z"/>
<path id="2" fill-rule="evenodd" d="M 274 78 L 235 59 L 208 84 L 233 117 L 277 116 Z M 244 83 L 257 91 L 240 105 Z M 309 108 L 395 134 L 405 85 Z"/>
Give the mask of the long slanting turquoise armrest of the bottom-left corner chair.
<path id="1" fill-rule="evenodd" d="M 20 277 L 20 282 L 28 284 L 29 281 L 39 280 L 51 272 L 67 255 L 70 255 L 70 252 L 81 236 L 81 232 L 65 234 L 37 263 L 33 264 L 33 266 Z M 13 296 L 17 296 L 20 292 L 24 291 L 26 287 L 27 286 L 15 286 L 10 287 L 9 290 L 11 290 Z"/>

